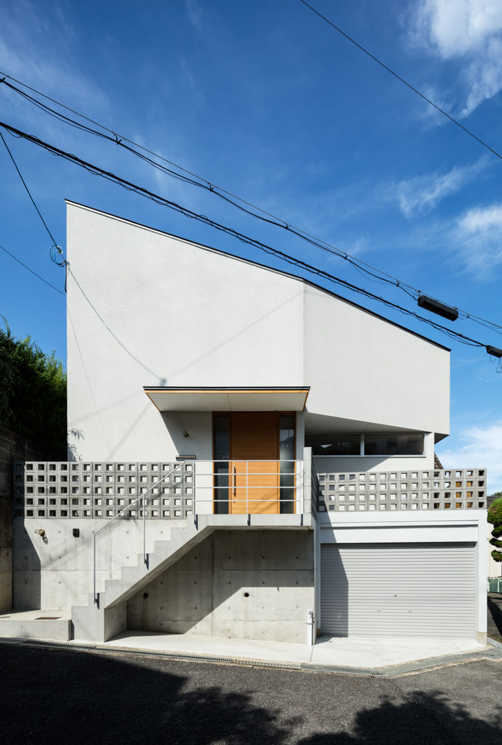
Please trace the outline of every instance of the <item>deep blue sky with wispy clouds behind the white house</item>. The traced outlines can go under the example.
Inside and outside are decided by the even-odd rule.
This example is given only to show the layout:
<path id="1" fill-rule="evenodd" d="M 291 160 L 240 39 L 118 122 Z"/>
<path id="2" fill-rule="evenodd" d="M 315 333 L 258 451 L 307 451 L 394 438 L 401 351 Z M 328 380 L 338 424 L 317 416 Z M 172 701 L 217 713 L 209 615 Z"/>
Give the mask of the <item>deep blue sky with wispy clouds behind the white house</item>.
<path id="1" fill-rule="evenodd" d="M 313 5 L 502 150 L 502 4 L 313 0 Z M 0 10 L 4 74 L 425 294 L 502 326 L 500 159 L 299 0 L 0 0 Z M 370 281 L 346 261 L 160 174 L 116 145 L 64 126 L 4 85 L 0 111 L 2 121 L 62 150 L 418 310 L 398 288 Z M 288 268 L 2 133 L 63 248 L 69 198 Z M 63 270 L 49 258 L 51 240 L 1 141 L 0 168 L 1 246 L 63 289 Z M 106 253 L 101 260 L 107 261 Z M 445 466 L 487 466 L 491 488 L 501 489 L 497 361 L 398 311 L 333 289 L 451 347 L 452 434 L 439 444 L 438 454 Z M 421 312 L 502 347 L 501 329 L 467 319 L 442 322 Z M 14 334 L 31 335 L 64 360 L 63 295 L 3 251 L 0 314 Z"/>

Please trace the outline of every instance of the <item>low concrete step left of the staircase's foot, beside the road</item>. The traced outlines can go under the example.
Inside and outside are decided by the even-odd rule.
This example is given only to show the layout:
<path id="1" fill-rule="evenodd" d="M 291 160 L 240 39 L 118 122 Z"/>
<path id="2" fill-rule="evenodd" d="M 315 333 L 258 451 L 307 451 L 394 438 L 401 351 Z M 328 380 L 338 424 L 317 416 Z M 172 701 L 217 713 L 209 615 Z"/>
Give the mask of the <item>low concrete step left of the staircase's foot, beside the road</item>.
<path id="1" fill-rule="evenodd" d="M 60 609 L 2 613 L 0 636 L 69 641 L 73 638 L 71 613 Z"/>

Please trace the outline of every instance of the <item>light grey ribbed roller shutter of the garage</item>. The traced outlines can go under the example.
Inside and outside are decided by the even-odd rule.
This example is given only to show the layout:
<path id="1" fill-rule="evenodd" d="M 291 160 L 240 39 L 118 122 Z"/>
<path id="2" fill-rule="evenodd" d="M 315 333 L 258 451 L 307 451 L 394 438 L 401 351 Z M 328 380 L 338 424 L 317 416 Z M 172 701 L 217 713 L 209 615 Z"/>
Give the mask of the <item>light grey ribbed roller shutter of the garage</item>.
<path id="1" fill-rule="evenodd" d="M 321 544 L 321 633 L 475 638 L 474 548 Z"/>

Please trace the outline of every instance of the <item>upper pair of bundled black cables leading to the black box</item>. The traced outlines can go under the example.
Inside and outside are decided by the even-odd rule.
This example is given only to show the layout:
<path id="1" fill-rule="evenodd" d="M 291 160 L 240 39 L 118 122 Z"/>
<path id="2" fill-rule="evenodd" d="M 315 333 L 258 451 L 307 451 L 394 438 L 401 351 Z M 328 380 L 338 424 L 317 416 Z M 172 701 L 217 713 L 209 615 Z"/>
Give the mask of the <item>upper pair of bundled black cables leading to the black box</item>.
<path id="1" fill-rule="evenodd" d="M 270 225 L 285 229 L 292 235 L 296 235 L 298 238 L 301 238 L 303 241 L 306 241 L 307 243 L 313 245 L 314 247 L 317 247 L 320 250 L 323 250 L 327 253 L 331 253 L 333 254 L 333 256 L 337 256 L 339 259 L 344 259 L 345 261 L 348 261 L 348 263 L 354 266 L 354 268 L 357 271 L 359 271 L 360 273 L 363 272 L 366 276 L 368 276 L 370 279 L 372 278 L 372 280 L 375 282 L 383 282 L 385 284 L 393 285 L 396 288 L 403 291 L 404 293 L 406 293 L 407 295 L 409 295 L 410 297 L 414 298 L 415 300 L 418 300 L 418 298 L 421 296 L 422 294 L 421 290 L 413 287 L 407 282 L 403 282 L 397 277 L 392 276 L 391 274 L 388 274 L 384 272 L 383 270 L 378 269 L 377 267 L 374 267 L 371 264 L 368 264 L 366 261 L 361 261 L 360 259 L 357 259 L 355 256 L 351 256 L 351 254 L 336 248 L 335 246 L 327 243 L 327 241 L 324 241 L 321 238 L 316 238 L 314 235 L 310 234 L 309 232 L 306 232 L 305 230 L 292 225 L 292 223 L 288 223 L 287 221 L 283 220 L 283 218 L 279 218 L 277 217 L 277 215 L 273 215 L 271 212 L 267 212 L 261 207 L 258 207 L 254 205 L 253 203 L 242 199 L 242 197 L 236 196 L 236 194 L 233 194 L 231 191 L 227 191 L 225 188 L 222 188 L 221 186 L 216 186 L 216 184 L 208 181 L 207 179 L 204 179 L 201 176 L 198 176 L 197 174 L 194 174 L 192 171 L 188 171 L 186 168 L 183 168 L 183 166 L 178 165 L 175 162 L 164 158 L 158 153 L 154 153 L 153 150 L 148 150 L 148 148 L 145 148 L 142 145 L 139 145 L 137 142 L 134 142 L 133 140 L 128 139 L 127 137 L 123 135 L 118 135 L 114 130 L 110 130 L 108 127 L 105 127 L 104 124 L 99 124 L 94 119 L 87 117 L 81 112 L 75 111 L 74 109 L 66 106 L 66 104 L 62 104 L 60 101 L 56 101 L 54 98 L 51 98 L 50 96 L 46 95 L 43 92 L 38 91 L 35 88 L 32 88 L 31 86 L 28 86 L 26 83 L 22 83 L 22 81 L 17 80 L 15 77 L 6 75 L 5 73 L 2 73 L 2 72 L 0 72 L 0 75 L 4 75 L 3 79 L 0 80 L 0 83 L 4 83 L 8 88 L 13 90 L 17 94 L 21 95 L 31 104 L 34 104 L 35 106 L 37 106 L 38 108 L 46 112 L 48 115 L 53 116 L 54 118 L 57 118 L 59 121 L 63 121 L 63 123 L 68 124 L 71 127 L 75 127 L 78 130 L 85 131 L 92 135 L 101 137 L 102 139 L 105 139 L 109 142 L 113 142 L 113 144 L 119 145 L 120 147 L 125 148 L 130 153 L 133 153 L 135 156 L 138 156 L 145 162 L 148 162 L 150 165 L 154 166 L 154 168 L 157 168 L 157 170 L 162 171 L 169 177 L 173 177 L 178 180 L 181 180 L 184 183 L 188 183 L 191 186 L 198 186 L 199 188 L 204 188 L 207 191 L 210 191 L 210 193 L 215 194 L 217 197 L 222 198 L 223 200 L 225 200 L 225 202 L 230 203 L 237 209 L 240 209 L 242 212 L 245 212 L 246 214 L 251 215 L 251 217 L 254 217 L 261 221 L 269 223 Z M 23 88 L 31 90 L 31 92 L 37 93 L 37 95 L 42 96 L 47 101 L 51 101 L 52 103 L 56 104 L 58 107 L 61 107 L 66 111 L 72 112 L 73 114 L 77 115 L 81 119 L 84 119 L 85 121 L 89 121 L 90 124 L 95 124 L 96 127 L 99 127 L 101 130 L 104 130 L 104 131 L 99 132 L 98 130 L 93 129 L 92 127 L 87 127 L 86 124 L 81 124 L 81 122 L 75 121 L 75 119 L 72 119 L 71 117 L 68 117 L 62 114 L 61 112 L 57 112 L 51 107 L 48 107 L 42 101 L 37 101 L 36 98 L 34 98 L 31 95 L 28 95 L 27 93 L 20 90 L 16 86 L 13 86 L 12 83 L 7 83 L 7 80 L 6 80 L 7 77 L 10 80 L 14 80 L 16 83 L 19 83 L 19 85 L 23 86 Z M 109 133 L 110 136 L 104 134 L 104 132 Z M 165 163 L 168 163 L 169 165 L 172 165 L 174 168 L 177 168 L 178 171 L 182 171 L 182 173 L 172 171 L 171 168 L 166 168 L 165 166 L 163 166 L 162 164 L 158 162 L 155 162 L 148 156 L 143 156 L 142 153 L 139 153 L 137 150 L 135 150 L 134 148 L 131 148 L 129 145 L 126 145 L 125 143 L 134 145 L 134 148 L 139 148 L 139 150 L 142 150 L 145 153 L 149 153 L 151 156 L 154 156 L 154 158 L 157 158 Z M 188 174 L 189 177 L 184 176 L 183 174 Z M 247 208 L 251 208 L 251 209 L 247 209 Z M 439 301 L 439 299 L 437 298 L 435 299 Z M 502 335 L 502 326 L 499 326 L 497 323 L 486 320 L 484 318 L 480 318 L 470 313 L 469 311 L 462 311 L 459 308 L 456 308 L 456 309 L 459 311 L 460 317 L 474 320 L 475 323 L 480 323 L 481 326 L 485 326 L 486 328 L 491 329 L 492 331 L 495 331 L 495 333 Z"/>

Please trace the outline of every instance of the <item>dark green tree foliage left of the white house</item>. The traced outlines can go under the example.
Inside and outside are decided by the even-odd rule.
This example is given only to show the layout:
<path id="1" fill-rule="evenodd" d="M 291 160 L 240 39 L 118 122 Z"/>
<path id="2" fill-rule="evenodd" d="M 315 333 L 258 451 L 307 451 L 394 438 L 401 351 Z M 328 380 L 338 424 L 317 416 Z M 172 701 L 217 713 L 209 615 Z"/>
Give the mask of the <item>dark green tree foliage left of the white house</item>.
<path id="1" fill-rule="evenodd" d="M 31 337 L 0 327 L 0 424 L 66 457 L 66 372 Z"/>

